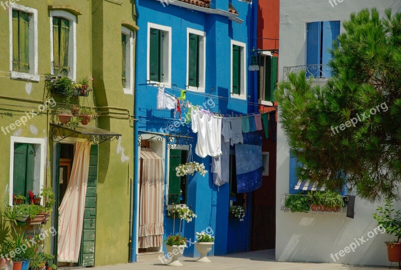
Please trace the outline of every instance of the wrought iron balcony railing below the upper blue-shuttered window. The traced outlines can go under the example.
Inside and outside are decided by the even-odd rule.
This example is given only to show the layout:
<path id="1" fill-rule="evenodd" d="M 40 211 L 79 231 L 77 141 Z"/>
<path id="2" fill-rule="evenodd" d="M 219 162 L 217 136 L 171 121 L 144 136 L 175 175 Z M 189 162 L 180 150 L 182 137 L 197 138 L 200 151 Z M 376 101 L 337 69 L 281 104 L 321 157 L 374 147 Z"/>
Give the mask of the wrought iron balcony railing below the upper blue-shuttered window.
<path id="1" fill-rule="evenodd" d="M 288 81 L 288 75 L 290 73 L 299 74 L 302 70 L 305 71 L 306 78 L 313 77 L 316 82 L 325 82 L 331 77 L 331 68 L 328 65 L 303 65 L 284 67 L 283 80 Z"/>

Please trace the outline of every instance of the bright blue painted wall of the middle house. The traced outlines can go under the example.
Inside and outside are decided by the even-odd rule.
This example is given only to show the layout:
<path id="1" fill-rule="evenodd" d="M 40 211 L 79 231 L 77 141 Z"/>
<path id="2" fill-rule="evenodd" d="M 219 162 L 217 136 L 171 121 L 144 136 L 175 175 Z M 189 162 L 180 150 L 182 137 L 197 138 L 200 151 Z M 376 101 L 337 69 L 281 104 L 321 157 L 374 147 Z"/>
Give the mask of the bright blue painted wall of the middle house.
<path id="1" fill-rule="evenodd" d="M 252 49 L 252 5 L 239 0 L 230 0 L 239 13 L 239 18 L 244 22 L 238 24 L 230 21 L 227 17 L 221 15 L 210 15 L 203 12 L 179 8 L 173 5 L 163 7 L 156 0 L 137 0 L 136 12 L 138 15 L 137 24 L 139 31 L 136 36 L 136 80 L 135 80 L 135 123 L 136 132 L 160 132 L 160 129 L 167 128 L 173 124 L 174 118 L 172 112 L 156 109 L 157 88 L 154 86 L 141 85 L 146 84 L 147 75 L 147 28 L 148 23 L 154 23 L 171 27 L 172 39 L 172 65 L 171 82 L 177 87 L 184 89 L 186 84 L 186 43 L 187 28 L 206 32 L 206 91 L 199 94 L 187 91 L 186 99 L 193 105 L 202 105 L 208 100 L 208 108 L 213 112 L 222 114 L 245 114 L 250 111 L 248 102 L 252 101 L 251 81 L 252 73 L 247 71 L 247 96 L 248 102 L 230 97 L 231 84 L 231 40 L 247 44 L 246 67 L 250 62 L 250 51 Z M 229 0 L 212 0 L 212 8 L 228 11 Z M 214 88 L 214 91 L 212 91 Z M 179 96 L 179 90 L 166 88 L 166 92 Z M 219 98 L 216 98 L 216 97 Z M 212 104 L 212 106 L 211 106 Z M 182 116 L 185 116 L 183 110 Z M 175 119 L 177 120 L 177 119 Z M 180 126 L 176 131 L 187 133 L 189 126 Z M 208 171 L 210 171 L 211 157 L 199 158 L 194 153 L 196 143 L 196 134 L 190 132 L 193 138 L 193 158 L 197 162 L 203 162 Z M 167 151 L 166 151 L 167 152 Z M 137 147 L 135 156 L 138 156 Z M 167 161 L 168 157 L 163 157 Z M 137 163 L 136 163 L 137 164 Z M 166 166 L 166 165 L 165 165 Z M 167 166 L 166 166 L 167 168 Z M 167 175 L 167 173 L 166 173 Z M 223 255 L 228 252 L 246 251 L 249 249 L 250 234 L 250 216 L 251 200 L 248 200 L 248 214 L 244 222 L 238 223 L 229 220 L 229 185 L 225 184 L 220 188 L 214 186 L 212 174 L 207 173 L 205 177 L 196 173 L 188 177 L 187 185 L 187 205 L 197 214 L 197 218 L 190 223 L 182 225 L 181 231 L 185 237 L 195 239 L 195 232 L 202 231 L 212 227 L 215 238 L 215 246 L 212 254 Z M 138 179 L 135 179 L 135 183 Z M 138 196 L 138 194 L 136 194 Z M 138 207 L 135 207 L 136 211 Z M 136 216 L 136 215 L 134 215 Z M 164 237 L 172 233 L 172 219 L 164 211 Z M 135 221 L 137 222 L 137 220 Z M 179 220 L 175 221 L 175 232 L 178 231 Z M 244 237 L 233 237 L 235 231 L 244 232 Z M 136 239 L 134 229 L 133 239 Z M 133 241 L 132 256 L 135 256 L 135 240 Z M 235 245 L 238 249 L 232 249 Z M 163 246 L 165 251 L 165 247 Z M 194 246 L 185 248 L 184 255 L 198 256 Z"/>

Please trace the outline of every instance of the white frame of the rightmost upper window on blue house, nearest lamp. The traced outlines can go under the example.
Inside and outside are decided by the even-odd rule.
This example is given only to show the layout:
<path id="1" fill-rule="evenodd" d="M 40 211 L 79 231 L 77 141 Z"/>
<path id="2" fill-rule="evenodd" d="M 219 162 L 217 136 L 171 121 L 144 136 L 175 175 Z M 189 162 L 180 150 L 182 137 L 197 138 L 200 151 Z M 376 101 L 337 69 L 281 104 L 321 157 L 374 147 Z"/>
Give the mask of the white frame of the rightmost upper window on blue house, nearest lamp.
<path id="1" fill-rule="evenodd" d="M 242 63 L 243 65 L 241 66 L 241 89 L 240 89 L 240 95 L 233 94 L 233 46 L 238 45 L 242 47 L 241 49 L 241 58 L 242 58 Z M 242 100 L 247 100 L 247 45 L 243 42 L 231 40 L 231 46 L 230 46 L 230 96 L 231 98 L 236 98 L 236 99 L 242 99 Z"/>

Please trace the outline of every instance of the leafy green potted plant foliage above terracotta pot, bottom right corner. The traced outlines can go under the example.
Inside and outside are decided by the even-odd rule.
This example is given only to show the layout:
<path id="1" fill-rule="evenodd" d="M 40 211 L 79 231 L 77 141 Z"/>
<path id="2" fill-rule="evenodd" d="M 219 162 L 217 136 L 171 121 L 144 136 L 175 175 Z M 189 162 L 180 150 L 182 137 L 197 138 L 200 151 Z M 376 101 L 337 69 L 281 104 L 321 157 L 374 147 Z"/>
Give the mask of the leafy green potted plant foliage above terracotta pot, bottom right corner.
<path id="1" fill-rule="evenodd" d="M 373 214 L 373 218 L 377 220 L 379 226 L 385 229 L 385 232 L 389 235 L 395 235 L 397 241 L 401 238 L 401 210 L 394 210 L 393 203 L 391 200 L 386 200 L 384 207 L 378 206 L 376 211 L 378 213 Z M 386 242 L 391 244 L 394 241 Z"/>

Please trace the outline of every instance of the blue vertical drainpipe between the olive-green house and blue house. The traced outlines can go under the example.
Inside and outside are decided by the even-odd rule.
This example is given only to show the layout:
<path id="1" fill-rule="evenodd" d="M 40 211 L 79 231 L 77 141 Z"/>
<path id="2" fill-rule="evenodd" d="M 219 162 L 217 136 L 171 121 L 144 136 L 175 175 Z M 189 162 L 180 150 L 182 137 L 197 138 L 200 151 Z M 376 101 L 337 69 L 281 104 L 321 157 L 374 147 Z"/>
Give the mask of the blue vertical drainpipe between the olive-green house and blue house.
<path id="1" fill-rule="evenodd" d="M 135 13 L 136 13 L 136 25 L 138 25 L 138 20 L 139 20 L 139 12 L 138 12 L 138 0 L 135 0 Z M 135 39 L 135 77 L 138 74 L 138 38 L 139 35 L 136 35 Z M 135 85 L 137 84 L 137 78 L 135 78 Z M 136 109 L 138 106 L 138 99 L 136 98 L 136 87 L 134 88 L 134 119 L 136 118 Z M 129 257 L 129 262 L 136 262 L 136 239 L 137 237 L 137 231 L 136 231 L 136 224 L 138 220 L 136 219 L 137 217 L 137 212 L 138 212 L 138 205 L 136 203 L 136 199 L 138 198 L 138 189 L 136 188 L 138 186 L 138 174 L 136 173 L 138 169 L 138 121 L 134 120 L 134 181 L 131 182 L 131 192 L 133 190 L 133 198 L 131 202 L 131 207 L 133 207 L 132 211 L 132 218 L 131 218 L 131 236 L 130 236 L 130 257 Z"/>

